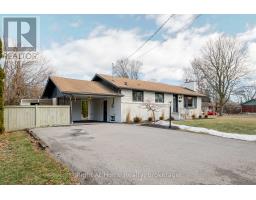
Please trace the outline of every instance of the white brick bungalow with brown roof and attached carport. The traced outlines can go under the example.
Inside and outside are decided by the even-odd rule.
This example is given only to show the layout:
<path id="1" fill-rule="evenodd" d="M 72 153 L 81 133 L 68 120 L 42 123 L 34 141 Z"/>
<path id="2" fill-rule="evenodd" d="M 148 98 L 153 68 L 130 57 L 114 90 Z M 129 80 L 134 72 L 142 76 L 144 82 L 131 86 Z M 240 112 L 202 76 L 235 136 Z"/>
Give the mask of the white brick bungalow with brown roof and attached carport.
<path id="1" fill-rule="evenodd" d="M 72 121 L 80 121 L 81 102 L 88 101 L 88 120 L 126 122 L 151 116 L 145 103 L 157 105 L 156 119 L 199 117 L 204 95 L 185 87 L 96 74 L 91 81 L 50 77 L 42 98 L 70 105 Z"/>

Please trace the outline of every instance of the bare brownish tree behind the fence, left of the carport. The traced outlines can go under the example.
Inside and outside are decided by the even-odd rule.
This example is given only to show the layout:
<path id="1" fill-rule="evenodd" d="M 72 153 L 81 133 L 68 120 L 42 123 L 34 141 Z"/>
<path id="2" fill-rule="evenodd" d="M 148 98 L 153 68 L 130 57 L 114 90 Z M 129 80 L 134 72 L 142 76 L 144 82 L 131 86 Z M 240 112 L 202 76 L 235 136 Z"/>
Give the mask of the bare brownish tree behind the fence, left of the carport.
<path id="1" fill-rule="evenodd" d="M 48 76 L 53 73 L 48 61 L 40 55 L 33 60 L 5 56 L 4 71 L 6 105 L 19 104 L 23 98 L 39 98 Z"/>

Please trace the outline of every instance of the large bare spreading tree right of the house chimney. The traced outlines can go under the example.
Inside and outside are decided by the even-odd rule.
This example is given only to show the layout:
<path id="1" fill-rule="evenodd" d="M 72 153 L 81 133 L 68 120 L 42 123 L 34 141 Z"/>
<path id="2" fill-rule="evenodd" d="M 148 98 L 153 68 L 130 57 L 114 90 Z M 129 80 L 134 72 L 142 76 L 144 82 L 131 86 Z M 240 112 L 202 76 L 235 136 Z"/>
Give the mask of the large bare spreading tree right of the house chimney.
<path id="1" fill-rule="evenodd" d="M 201 56 L 191 63 L 193 70 L 202 75 L 201 79 L 215 95 L 220 115 L 241 78 L 246 75 L 246 54 L 246 49 L 236 39 L 220 36 L 207 42 Z"/>

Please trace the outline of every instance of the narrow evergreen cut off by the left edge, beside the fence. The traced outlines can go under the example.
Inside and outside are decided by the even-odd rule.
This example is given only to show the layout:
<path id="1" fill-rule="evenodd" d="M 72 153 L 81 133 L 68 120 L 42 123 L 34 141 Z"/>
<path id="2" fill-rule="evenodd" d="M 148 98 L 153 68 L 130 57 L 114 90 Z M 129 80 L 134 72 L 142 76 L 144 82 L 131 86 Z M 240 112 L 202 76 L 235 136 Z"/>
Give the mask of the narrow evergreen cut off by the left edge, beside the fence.
<path id="1" fill-rule="evenodd" d="M 0 61 L 3 57 L 3 45 L 0 38 Z M 0 63 L 0 133 L 4 132 L 4 69 Z"/>

